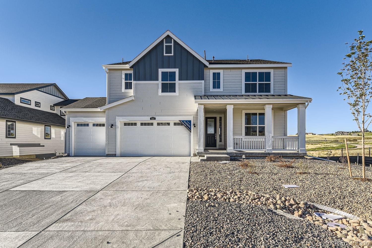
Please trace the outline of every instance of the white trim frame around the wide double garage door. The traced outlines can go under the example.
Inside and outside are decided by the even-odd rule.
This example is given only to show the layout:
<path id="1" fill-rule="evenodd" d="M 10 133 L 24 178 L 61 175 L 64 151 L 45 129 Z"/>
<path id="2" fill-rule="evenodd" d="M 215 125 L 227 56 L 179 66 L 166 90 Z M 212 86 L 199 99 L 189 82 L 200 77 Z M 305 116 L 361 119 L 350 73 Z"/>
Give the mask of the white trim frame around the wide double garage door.
<path id="1" fill-rule="evenodd" d="M 155 117 L 156 120 L 150 120 L 151 117 Z M 177 120 L 191 120 L 191 134 L 190 134 L 190 155 L 193 155 L 194 143 L 193 143 L 193 115 L 175 115 L 175 116 L 116 116 L 116 156 L 120 157 L 120 123 L 124 121 L 177 121 Z"/>

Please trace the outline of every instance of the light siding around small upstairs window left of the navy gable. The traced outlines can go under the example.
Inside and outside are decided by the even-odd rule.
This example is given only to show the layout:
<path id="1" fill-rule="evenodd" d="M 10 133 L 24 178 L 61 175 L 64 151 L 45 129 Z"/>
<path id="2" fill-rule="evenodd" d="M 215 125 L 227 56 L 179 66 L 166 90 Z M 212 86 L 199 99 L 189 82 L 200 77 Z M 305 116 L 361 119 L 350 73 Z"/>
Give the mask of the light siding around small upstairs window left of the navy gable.
<path id="1" fill-rule="evenodd" d="M 127 96 L 132 96 L 132 92 L 122 92 L 122 71 L 126 69 L 109 70 L 109 103 L 116 102 Z M 133 69 L 128 69 L 133 70 Z M 157 92 L 155 92 L 157 93 Z"/>

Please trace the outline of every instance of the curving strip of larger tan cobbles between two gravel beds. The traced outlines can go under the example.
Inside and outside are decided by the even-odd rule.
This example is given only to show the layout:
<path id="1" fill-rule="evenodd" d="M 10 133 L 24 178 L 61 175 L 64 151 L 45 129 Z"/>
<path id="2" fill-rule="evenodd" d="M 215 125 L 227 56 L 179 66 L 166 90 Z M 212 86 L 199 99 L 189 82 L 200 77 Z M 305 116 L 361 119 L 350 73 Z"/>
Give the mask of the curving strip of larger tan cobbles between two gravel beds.
<path id="1" fill-rule="evenodd" d="M 295 198 L 283 197 L 280 195 L 271 196 L 251 191 L 221 191 L 219 189 L 190 188 L 187 190 L 187 199 L 203 202 L 206 207 L 217 202 L 225 202 L 227 205 L 229 203 L 252 204 L 253 206 L 257 205 L 279 210 L 296 217 L 304 218 L 315 225 L 319 225 L 354 247 L 372 248 L 371 220 L 344 218 L 334 222 L 344 224 L 347 226 L 346 228 L 331 227 L 327 225 L 328 222 L 331 222 L 330 220 L 323 220 L 321 217 L 315 216 L 314 214 L 314 212 L 325 213 L 324 210 L 317 209 L 314 205 L 296 200 Z M 362 227 L 363 230 L 361 230 L 360 227 Z"/>

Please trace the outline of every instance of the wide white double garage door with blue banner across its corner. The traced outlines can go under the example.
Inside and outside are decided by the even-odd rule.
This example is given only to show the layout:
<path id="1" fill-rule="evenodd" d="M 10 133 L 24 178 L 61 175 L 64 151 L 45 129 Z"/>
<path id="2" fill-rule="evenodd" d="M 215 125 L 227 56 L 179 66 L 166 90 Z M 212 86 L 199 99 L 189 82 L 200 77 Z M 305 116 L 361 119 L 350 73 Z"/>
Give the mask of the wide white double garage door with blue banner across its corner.
<path id="1" fill-rule="evenodd" d="M 190 156 L 190 131 L 179 121 L 120 124 L 121 156 Z"/>

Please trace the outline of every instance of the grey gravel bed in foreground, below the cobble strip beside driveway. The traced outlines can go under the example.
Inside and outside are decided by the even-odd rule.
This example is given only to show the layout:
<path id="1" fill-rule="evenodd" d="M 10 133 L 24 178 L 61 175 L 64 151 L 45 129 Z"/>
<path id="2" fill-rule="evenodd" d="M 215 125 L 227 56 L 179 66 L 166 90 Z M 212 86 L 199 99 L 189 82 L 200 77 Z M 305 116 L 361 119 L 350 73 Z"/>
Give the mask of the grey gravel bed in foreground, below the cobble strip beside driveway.
<path id="1" fill-rule="evenodd" d="M 199 247 L 351 247 L 320 226 L 251 204 L 188 201 L 184 242 Z"/>

